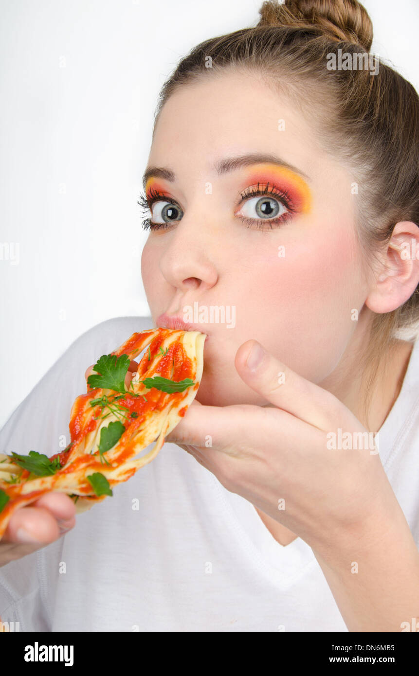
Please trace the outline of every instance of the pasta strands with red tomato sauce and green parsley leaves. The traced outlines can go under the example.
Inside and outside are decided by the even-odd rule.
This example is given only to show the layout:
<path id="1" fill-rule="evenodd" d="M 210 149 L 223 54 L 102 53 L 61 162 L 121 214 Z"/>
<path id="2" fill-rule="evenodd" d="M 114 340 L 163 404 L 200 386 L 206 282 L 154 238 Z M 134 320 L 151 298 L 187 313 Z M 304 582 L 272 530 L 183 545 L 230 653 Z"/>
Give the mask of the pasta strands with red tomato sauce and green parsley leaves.
<path id="1" fill-rule="evenodd" d="M 49 458 L 33 450 L 0 454 L 0 539 L 13 512 L 43 493 L 67 493 L 76 513 L 84 512 L 153 460 L 196 396 L 205 337 L 162 328 L 133 333 L 93 366 L 87 393 L 72 405 L 64 451 Z M 130 361 L 144 349 L 127 389 Z M 153 448 L 136 458 L 152 441 Z"/>

